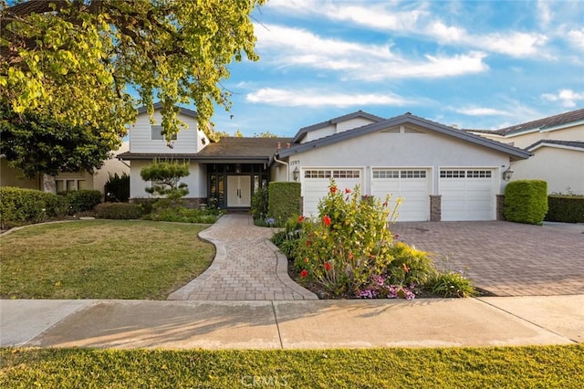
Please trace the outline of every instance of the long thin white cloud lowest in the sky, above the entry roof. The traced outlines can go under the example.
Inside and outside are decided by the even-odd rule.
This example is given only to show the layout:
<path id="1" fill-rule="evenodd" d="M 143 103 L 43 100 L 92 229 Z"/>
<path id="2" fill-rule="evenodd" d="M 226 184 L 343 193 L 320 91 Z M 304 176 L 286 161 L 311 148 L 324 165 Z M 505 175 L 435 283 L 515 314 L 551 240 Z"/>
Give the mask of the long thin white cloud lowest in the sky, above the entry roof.
<path id="1" fill-rule="evenodd" d="M 285 107 L 350 107 L 368 105 L 402 106 L 411 101 L 394 94 L 377 93 L 324 93 L 319 89 L 264 88 L 248 94 L 245 100 Z"/>

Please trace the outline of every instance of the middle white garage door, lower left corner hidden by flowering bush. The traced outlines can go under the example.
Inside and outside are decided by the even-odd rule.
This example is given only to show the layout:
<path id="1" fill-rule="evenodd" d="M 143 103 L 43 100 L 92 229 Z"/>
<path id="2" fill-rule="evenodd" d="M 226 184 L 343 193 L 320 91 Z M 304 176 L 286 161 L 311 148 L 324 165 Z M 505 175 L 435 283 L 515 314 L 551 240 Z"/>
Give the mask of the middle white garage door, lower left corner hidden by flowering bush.
<path id="1" fill-rule="evenodd" d="M 371 195 L 385 199 L 391 195 L 391 206 L 398 197 L 398 221 L 425 221 L 430 219 L 430 177 L 423 169 L 373 169 Z"/>

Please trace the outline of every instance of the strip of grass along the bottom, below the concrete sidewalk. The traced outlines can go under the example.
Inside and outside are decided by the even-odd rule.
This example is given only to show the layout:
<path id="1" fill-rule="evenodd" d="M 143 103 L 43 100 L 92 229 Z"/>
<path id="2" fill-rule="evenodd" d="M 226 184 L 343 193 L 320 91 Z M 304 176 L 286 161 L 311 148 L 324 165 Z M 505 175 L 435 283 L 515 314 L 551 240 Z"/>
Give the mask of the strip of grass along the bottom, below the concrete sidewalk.
<path id="1" fill-rule="evenodd" d="M 0 387 L 580 388 L 584 347 L 0 349 Z"/>

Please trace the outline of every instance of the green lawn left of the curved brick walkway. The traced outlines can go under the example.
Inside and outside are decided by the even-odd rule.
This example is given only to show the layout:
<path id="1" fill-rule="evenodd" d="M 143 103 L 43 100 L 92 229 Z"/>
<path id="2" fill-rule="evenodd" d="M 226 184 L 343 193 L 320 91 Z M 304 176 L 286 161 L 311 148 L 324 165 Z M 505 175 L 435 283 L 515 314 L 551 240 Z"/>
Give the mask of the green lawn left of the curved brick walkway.
<path id="1" fill-rule="evenodd" d="M 165 300 L 209 267 L 207 226 L 89 220 L 0 237 L 2 299 Z"/>

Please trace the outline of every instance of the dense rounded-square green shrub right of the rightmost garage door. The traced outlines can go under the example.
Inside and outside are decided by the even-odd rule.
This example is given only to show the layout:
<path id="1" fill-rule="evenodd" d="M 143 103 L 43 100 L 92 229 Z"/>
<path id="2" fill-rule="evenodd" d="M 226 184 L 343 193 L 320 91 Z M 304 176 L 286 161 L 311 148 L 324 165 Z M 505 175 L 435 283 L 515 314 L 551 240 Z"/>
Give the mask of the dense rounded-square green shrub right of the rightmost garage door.
<path id="1" fill-rule="evenodd" d="M 541 224 L 547 214 L 547 183 L 518 180 L 506 185 L 505 218 L 510 222 Z"/>

